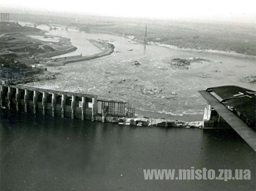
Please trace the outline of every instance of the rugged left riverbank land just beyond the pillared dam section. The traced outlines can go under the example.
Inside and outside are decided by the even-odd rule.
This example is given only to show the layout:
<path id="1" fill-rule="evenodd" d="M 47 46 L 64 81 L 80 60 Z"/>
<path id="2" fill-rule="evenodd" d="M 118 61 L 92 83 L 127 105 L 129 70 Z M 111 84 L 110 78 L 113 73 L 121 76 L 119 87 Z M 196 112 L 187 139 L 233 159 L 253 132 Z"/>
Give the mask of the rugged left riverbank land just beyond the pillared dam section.
<path id="1" fill-rule="evenodd" d="M 38 58 L 70 53 L 77 49 L 65 37 L 50 36 L 45 30 L 1 23 L 0 80 L 7 84 L 55 79 L 55 74 L 37 66 Z"/>

